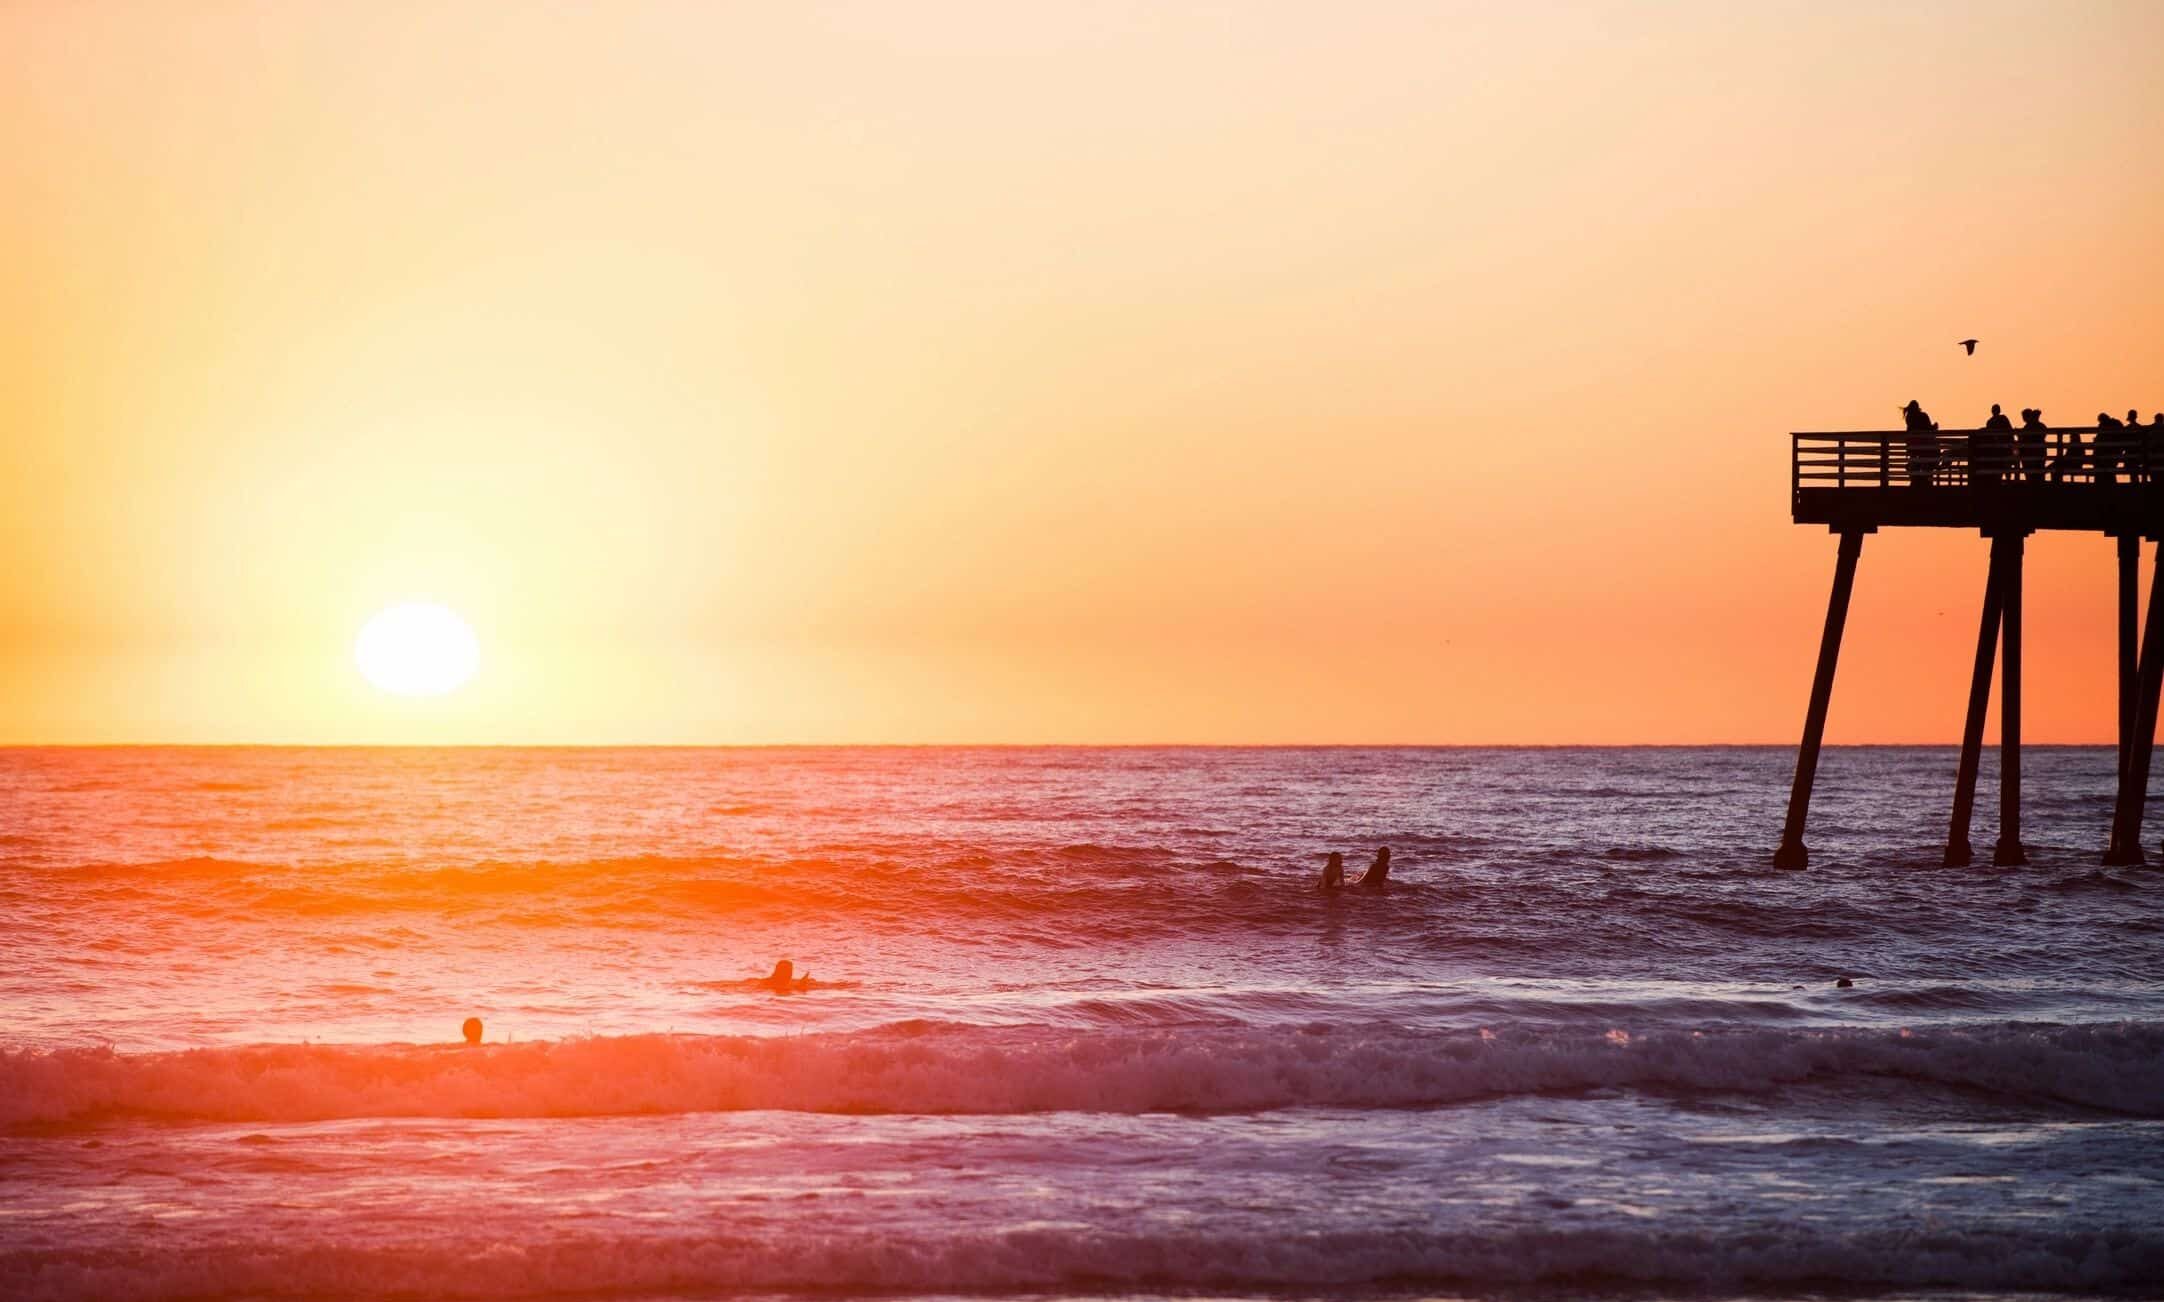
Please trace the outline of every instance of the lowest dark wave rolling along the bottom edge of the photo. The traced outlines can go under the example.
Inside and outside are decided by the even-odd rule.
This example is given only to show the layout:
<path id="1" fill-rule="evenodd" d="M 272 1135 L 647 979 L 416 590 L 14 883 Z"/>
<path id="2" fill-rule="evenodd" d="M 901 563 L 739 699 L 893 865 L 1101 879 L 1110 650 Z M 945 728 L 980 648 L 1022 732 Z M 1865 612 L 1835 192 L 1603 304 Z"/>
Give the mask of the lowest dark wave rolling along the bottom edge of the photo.
<path id="1" fill-rule="evenodd" d="M 1954 1287 L 2147 1291 L 2164 1278 L 2164 1233 L 2145 1228 L 1917 1226 L 1839 1231 L 1805 1220 L 1731 1231 L 1675 1226 L 1463 1231 L 1372 1228 L 1173 1235 L 1039 1224 L 907 1239 L 807 1224 L 651 1235 L 465 1231 L 400 1241 L 0 1248 L 0 1285 L 45 1298 L 532 1298 L 777 1289 L 1210 1289 L 1350 1285 Z"/>

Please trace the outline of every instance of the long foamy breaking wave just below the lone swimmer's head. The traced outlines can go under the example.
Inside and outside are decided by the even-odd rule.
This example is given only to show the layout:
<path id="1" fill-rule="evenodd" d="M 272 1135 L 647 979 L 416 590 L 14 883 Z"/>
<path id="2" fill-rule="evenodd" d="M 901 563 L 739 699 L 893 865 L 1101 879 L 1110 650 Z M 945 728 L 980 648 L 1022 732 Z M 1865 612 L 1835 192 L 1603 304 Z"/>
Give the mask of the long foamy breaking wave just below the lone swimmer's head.
<path id="1" fill-rule="evenodd" d="M 1919 1081 L 2164 1116 L 2164 1023 L 1606 1034 L 896 1023 L 803 1036 L 589 1036 L 448 1049 L 0 1049 L 0 1125 L 115 1116 L 1032 1114 L 1433 1107 L 1595 1088 Z"/>

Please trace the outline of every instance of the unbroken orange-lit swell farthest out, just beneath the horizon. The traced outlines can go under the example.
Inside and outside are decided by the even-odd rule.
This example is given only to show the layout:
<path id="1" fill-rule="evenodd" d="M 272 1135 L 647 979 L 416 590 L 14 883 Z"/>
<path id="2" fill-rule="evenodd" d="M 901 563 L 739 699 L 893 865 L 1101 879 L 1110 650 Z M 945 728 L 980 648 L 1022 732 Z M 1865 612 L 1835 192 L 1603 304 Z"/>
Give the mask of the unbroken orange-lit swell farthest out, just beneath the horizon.
<path id="1" fill-rule="evenodd" d="M 1617 852 L 1640 859 L 1638 852 Z M 1658 861 L 1668 850 L 1647 850 Z M 1002 928 L 1045 924 L 1056 934 L 1138 928 L 1184 934 L 1212 930 L 1305 928 L 1322 917 L 1363 926 L 1426 930 L 1480 941 L 1497 928 L 1539 934 L 1547 952 L 1556 928 L 1588 934 L 1629 932 L 1668 921 L 1714 932 L 1848 936 L 1872 930 L 1865 908 L 1707 898 L 1703 889 L 1647 876 L 1586 891 L 1554 880 L 1469 880 L 1448 856 L 1400 856 L 1389 891 L 1318 898 L 1320 863 L 1182 856 L 1171 850 L 1104 848 L 1015 850 L 989 856 L 967 846 L 915 846 L 907 856 L 837 848 L 831 854 L 760 859 L 740 854 L 634 854 L 589 861 L 353 861 L 251 863 L 173 859 L 84 863 L 56 869 L 0 865 L 0 889 L 65 893 L 82 908 L 154 902 L 164 913 L 201 919 L 264 921 L 340 915 L 489 917 L 532 926 L 651 926 L 686 915 L 924 917 L 993 919 Z M 1588 859 L 1588 863 L 1595 863 Z M 1487 936 L 1493 939 L 1493 936 Z M 1513 941 L 1515 945 L 1515 941 Z"/>

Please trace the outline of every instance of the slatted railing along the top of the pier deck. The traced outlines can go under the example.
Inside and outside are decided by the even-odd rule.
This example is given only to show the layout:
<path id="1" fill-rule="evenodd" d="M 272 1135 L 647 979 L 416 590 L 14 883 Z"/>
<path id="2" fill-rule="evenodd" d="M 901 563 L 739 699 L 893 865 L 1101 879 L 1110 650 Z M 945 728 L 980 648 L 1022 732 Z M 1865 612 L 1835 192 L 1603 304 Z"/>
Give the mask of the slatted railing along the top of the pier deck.
<path id="1" fill-rule="evenodd" d="M 2155 426 L 2099 430 L 1904 430 L 1790 435 L 1790 493 L 1805 489 L 1971 489 L 2151 484 L 2164 469 Z"/>

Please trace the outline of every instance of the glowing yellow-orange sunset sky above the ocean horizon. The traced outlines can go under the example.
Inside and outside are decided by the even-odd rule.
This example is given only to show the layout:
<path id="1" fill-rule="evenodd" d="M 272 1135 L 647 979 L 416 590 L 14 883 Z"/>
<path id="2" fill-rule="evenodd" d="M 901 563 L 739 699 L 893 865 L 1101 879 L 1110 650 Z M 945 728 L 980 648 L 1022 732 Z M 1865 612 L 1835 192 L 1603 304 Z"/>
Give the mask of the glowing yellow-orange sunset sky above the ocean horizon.
<path id="1" fill-rule="evenodd" d="M 0 742 L 1794 742 L 1787 430 L 2164 409 L 2160 54 L 0 4 Z M 2030 543 L 2032 740 L 2112 738 L 2112 556 Z M 1865 541 L 1831 742 L 1958 735 L 1984 562 Z M 415 599 L 448 696 L 355 668 Z"/>

